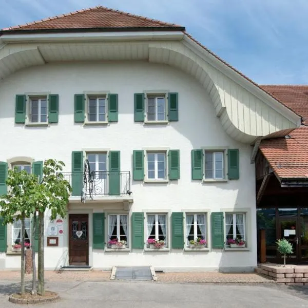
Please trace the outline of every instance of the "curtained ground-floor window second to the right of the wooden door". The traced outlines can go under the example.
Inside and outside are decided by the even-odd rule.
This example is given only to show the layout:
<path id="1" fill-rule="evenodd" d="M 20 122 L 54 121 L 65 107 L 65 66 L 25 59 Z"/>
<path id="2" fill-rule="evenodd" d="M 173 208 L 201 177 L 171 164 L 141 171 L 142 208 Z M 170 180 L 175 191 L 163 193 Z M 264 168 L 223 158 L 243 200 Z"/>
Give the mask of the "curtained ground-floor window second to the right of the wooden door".
<path id="1" fill-rule="evenodd" d="M 147 215 L 147 239 L 164 241 L 167 246 L 166 214 L 148 214 Z M 149 245 L 148 245 L 149 246 Z"/>

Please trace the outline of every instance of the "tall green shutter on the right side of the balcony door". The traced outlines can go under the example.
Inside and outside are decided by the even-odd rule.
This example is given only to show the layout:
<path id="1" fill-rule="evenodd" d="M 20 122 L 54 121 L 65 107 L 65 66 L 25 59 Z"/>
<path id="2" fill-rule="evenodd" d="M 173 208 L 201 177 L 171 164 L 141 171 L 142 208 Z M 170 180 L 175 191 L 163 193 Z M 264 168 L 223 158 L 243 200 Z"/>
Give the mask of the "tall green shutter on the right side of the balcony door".
<path id="1" fill-rule="evenodd" d="M 120 151 L 109 152 L 109 195 L 120 195 Z"/>

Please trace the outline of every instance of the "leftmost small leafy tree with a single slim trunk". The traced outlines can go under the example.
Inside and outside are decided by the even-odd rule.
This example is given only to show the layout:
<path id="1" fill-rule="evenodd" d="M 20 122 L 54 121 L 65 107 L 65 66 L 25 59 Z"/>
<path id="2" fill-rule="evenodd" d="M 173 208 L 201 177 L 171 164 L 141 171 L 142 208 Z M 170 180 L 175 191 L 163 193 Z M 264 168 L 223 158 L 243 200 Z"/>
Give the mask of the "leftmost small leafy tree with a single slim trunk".
<path id="1" fill-rule="evenodd" d="M 23 295 L 25 293 L 25 218 L 30 218 L 35 212 L 35 207 L 29 200 L 37 186 L 37 177 L 27 174 L 25 170 L 9 170 L 6 183 L 10 189 L 6 195 L 1 196 L 0 214 L 4 224 L 13 223 L 14 218 L 21 220 L 21 294 Z"/>

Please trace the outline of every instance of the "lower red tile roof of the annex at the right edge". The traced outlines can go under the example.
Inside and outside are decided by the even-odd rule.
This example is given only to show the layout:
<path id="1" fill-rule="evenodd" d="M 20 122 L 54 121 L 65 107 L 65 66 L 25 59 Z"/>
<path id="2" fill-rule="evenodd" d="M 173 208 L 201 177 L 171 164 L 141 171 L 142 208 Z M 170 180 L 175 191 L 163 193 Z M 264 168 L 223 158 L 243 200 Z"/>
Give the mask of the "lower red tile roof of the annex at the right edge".
<path id="1" fill-rule="evenodd" d="M 265 91 L 293 109 L 303 125 L 288 134 L 290 138 L 263 140 L 260 150 L 280 178 L 308 180 L 308 86 L 262 85 Z"/>

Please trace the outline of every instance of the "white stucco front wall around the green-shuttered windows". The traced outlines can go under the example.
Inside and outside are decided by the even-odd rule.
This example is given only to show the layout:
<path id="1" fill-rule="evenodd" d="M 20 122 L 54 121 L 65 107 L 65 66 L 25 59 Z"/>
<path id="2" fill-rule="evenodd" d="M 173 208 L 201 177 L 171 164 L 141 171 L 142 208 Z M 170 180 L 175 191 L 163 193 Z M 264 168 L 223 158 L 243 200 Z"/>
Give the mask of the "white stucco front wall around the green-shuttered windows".
<path id="1" fill-rule="evenodd" d="M 168 125 L 146 125 L 133 121 L 133 94 L 144 90 L 179 93 L 179 121 Z M 74 123 L 74 94 L 84 91 L 110 91 L 119 94 L 119 121 L 107 126 Z M 50 92 L 59 94 L 59 123 L 49 127 L 25 127 L 14 123 L 15 94 Z M 130 253 L 93 251 L 89 262 L 97 268 L 114 265 L 153 265 L 156 268 L 247 267 L 257 264 L 255 216 L 255 168 L 250 163 L 251 146 L 227 136 L 206 90 L 193 78 L 174 68 L 146 62 L 56 63 L 18 71 L 0 83 L 0 161 L 24 156 L 37 160 L 55 158 L 71 171 L 71 152 L 87 148 L 121 151 L 121 170 L 132 171 L 132 151 L 144 147 L 168 147 L 180 150 L 181 178 L 169 183 L 132 181 L 132 211 L 183 211 L 184 209 L 251 209 L 246 222 L 247 251 L 148 252 Z M 240 179 L 225 183 L 201 183 L 191 180 L 191 149 L 201 147 L 238 148 Z M 93 211 L 115 213 L 118 205 L 86 203 L 70 205 L 69 213 L 89 213 L 92 233 Z M 81 210 L 86 209 L 86 212 Z M 107 209 L 108 208 L 108 209 Z M 123 210 L 123 206 L 121 207 Z M 207 222 L 210 221 L 209 215 Z M 170 215 L 168 217 L 170 222 Z M 48 222 L 48 217 L 46 218 Z M 67 226 L 67 221 L 66 224 Z M 170 224 L 169 224 L 170 226 Z M 170 227 L 169 227 L 170 231 Z M 210 238 L 208 238 L 210 240 Z M 91 243 L 91 240 L 89 241 Z M 47 247 L 45 266 L 53 269 L 67 262 L 67 230 L 59 247 Z M 91 245 L 91 244 L 90 244 Z M 18 256 L 0 254 L 6 268 L 20 266 Z M 0 263 L 2 264 L 2 263 Z"/>

